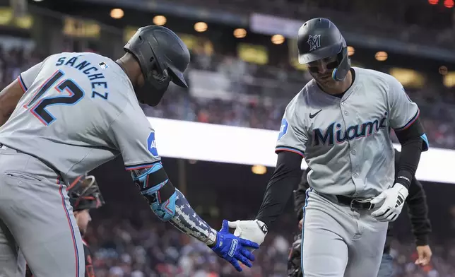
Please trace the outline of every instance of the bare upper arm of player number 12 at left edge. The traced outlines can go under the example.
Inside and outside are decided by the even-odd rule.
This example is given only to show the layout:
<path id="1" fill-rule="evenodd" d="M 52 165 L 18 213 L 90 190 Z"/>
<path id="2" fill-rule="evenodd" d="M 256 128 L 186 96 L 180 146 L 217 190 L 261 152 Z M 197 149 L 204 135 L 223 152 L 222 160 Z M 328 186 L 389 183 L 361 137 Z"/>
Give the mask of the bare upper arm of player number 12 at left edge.
<path id="1" fill-rule="evenodd" d="M 24 91 L 19 84 L 18 79 L 10 83 L 0 93 L 0 126 L 8 121 L 14 109 L 18 105 L 20 98 L 24 95 Z"/>

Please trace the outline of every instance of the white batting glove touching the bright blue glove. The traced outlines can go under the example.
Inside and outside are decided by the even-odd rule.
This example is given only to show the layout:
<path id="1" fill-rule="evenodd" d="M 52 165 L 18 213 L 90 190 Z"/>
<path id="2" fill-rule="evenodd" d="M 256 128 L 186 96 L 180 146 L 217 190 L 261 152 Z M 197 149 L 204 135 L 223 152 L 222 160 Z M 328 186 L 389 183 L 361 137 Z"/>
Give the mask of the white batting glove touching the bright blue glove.
<path id="1" fill-rule="evenodd" d="M 235 228 L 234 235 L 245 240 L 251 240 L 261 245 L 267 235 L 268 228 L 261 220 L 229 221 L 229 228 Z M 254 249 L 249 249 L 252 252 Z"/>

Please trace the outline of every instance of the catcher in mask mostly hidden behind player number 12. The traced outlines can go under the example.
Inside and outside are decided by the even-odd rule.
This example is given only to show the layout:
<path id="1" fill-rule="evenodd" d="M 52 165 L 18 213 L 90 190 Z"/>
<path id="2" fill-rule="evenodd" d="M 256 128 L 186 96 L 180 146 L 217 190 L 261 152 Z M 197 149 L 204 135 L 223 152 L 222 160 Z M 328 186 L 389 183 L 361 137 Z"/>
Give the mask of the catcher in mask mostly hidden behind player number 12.
<path id="1" fill-rule="evenodd" d="M 69 187 L 66 187 L 69 196 L 69 202 L 73 207 L 74 218 L 81 233 L 81 237 L 85 235 L 88 223 L 92 220 L 90 218 L 91 208 L 100 208 L 105 204 L 102 199 L 100 188 L 93 175 L 77 177 Z M 82 239 L 83 253 L 85 257 L 85 277 L 95 277 L 95 270 L 93 269 L 93 259 L 88 243 Z M 27 267 L 25 277 L 33 277 L 32 271 Z"/>

